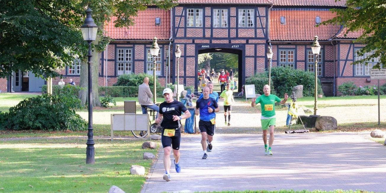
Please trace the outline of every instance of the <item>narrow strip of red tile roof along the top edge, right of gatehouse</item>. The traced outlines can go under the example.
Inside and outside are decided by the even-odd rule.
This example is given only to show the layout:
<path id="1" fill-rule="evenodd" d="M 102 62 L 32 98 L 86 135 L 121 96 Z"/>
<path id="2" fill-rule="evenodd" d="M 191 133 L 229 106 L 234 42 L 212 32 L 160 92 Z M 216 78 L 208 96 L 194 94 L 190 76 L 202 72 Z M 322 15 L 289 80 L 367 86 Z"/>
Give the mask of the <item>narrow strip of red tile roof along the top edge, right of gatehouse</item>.
<path id="1" fill-rule="evenodd" d="M 273 5 L 283 6 L 339 6 L 345 7 L 346 0 L 271 0 Z"/>

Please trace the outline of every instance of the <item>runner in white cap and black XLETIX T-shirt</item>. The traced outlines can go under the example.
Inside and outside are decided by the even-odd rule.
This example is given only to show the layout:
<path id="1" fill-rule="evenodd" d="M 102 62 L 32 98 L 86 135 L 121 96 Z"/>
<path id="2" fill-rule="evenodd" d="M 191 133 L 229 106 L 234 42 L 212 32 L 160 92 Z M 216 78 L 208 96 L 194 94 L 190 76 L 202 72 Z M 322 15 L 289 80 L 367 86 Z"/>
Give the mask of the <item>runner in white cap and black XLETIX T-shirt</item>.
<path id="1" fill-rule="evenodd" d="M 163 179 L 170 181 L 170 152 L 173 147 L 174 165 L 176 172 L 181 172 L 179 165 L 179 142 L 181 141 L 181 119 L 190 117 L 189 110 L 181 103 L 173 99 L 173 91 L 170 88 L 165 88 L 163 91 L 165 102 L 159 105 L 159 115 L 156 123 L 161 122 L 162 133 L 161 142 L 164 148 L 164 167 L 166 173 Z M 181 113 L 184 115 L 181 116 Z M 164 118 L 164 119 L 163 119 Z"/>

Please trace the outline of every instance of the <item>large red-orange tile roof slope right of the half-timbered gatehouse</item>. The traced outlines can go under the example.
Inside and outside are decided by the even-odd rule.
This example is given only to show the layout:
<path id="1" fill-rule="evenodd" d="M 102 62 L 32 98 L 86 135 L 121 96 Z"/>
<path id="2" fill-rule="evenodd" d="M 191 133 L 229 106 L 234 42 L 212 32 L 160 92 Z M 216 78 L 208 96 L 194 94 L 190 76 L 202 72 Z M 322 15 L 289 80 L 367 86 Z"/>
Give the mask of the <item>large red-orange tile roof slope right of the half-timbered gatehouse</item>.
<path id="1" fill-rule="evenodd" d="M 285 25 L 280 23 L 281 16 L 285 17 Z M 323 22 L 334 18 L 335 13 L 328 9 L 273 8 L 269 18 L 269 37 L 272 41 L 312 41 L 314 36 L 328 40 L 337 34 L 338 25 L 315 27 L 317 16 Z"/>

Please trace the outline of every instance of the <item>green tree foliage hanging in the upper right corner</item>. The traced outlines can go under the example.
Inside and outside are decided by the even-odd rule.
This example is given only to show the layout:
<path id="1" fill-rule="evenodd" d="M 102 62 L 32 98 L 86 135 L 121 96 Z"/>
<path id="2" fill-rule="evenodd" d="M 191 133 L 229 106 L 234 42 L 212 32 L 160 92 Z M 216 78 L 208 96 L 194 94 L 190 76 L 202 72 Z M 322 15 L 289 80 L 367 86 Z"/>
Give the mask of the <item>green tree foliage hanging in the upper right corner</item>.
<path id="1" fill-rule="evenodd" d="M 386 2 L 383 0 L 347 0 L 347 8 L 333 9 L 337 14 L 333 19 L 322 22 L 322 24 L 342 25 L 345 36 L 349 32 L 361 32 L 362 35 L 356 42 L 366 44 L 357 54 L 363 56 L 366 52 L 374 51 L 361 60 L 354 61 L 352 64 L 365 63 L 372 61 L 372 58 L 380 57 L 379 62 L 374 68 L 380 68 L 380 64 L 386 67 Z"/>

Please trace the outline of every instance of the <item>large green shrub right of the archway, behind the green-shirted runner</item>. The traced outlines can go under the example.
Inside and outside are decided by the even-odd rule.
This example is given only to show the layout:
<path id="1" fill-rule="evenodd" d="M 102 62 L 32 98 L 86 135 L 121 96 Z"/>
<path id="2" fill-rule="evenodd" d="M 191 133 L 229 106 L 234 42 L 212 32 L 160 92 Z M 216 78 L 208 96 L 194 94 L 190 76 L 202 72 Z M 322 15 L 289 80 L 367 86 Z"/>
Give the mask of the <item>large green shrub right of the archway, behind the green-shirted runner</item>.
<path id="1" fill-rule="evenodd" d="M 271 85 L 275 86 L 275 91 L 278 96 L 284 96 L 284 93 L 292 92 L 292 88 L 297 85 L 303 85 L 303 95 L 308 95 L 308 90 L 304 89 L 307 85 L 315 88 L 315 73 L 304 71 L 301 69 L 292 69 L 289 67 L 274 67 L 271 69 Z M 310 90 L 313 96 L 315 90 Z M 318 80 L 318 94 L 323 94 L 322 85 Z"/>

